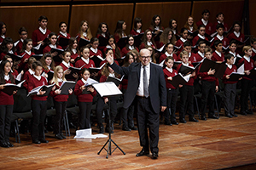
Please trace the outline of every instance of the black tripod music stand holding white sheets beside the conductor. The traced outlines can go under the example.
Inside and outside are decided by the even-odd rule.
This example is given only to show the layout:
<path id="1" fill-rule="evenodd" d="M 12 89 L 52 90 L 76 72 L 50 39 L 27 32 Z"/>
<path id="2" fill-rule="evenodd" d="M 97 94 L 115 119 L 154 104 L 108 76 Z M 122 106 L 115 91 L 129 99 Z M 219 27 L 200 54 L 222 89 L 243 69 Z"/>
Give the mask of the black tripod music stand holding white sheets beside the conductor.
<path id="1" fill-rule="evenodd" d="M 100 82 L 96 84 L 92 84 L 94 88 L 96 88 L 96 91 L 102 96 L 102 97 L 115 97 L 118 95 L 122 95 L 122 92 L 117 88 L 117 86 L 114 84 L 114 82 Z M 108 102 L 108 140 L 107 142 L 102 146 L 102 149 L 97 153 L 100 155 L 102 150 L 107 151 L 106 158 L 108 159 L 108 156 L 111 156 L 113 151 L 117 148 L 123 152 L 125 155 L 125 152 L 121 150 L 118 144 L 116 144 L 113 139 L 111 139 L 111 120 L 110 120 L 110 104 Z M 116 146 L 113 150 L 111 150 L 111 142 Z M 105 148 L 105 146 L 108 144 L 108 150 Z"/>

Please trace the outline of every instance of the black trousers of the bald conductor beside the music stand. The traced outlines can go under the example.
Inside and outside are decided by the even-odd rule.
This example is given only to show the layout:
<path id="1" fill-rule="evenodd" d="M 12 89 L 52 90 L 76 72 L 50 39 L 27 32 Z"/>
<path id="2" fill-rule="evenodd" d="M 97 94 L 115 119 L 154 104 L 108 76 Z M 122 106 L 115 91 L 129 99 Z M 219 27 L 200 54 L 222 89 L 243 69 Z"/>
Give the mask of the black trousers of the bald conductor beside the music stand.
<path id="1" fill-rule="evenodd" d="M 150 144 L 151 152 L 158 153 L 158 142 L 159 142 L 159 121 L 160 116 L 155 113 L 151 104 L 150 99 L 142 99 L 136 97 L 136 109 L 137 111 L 137 127 L 140 137 L 140 144 L 147 151 Z M 148 130 L 149 139 L 148 142 Z"/>

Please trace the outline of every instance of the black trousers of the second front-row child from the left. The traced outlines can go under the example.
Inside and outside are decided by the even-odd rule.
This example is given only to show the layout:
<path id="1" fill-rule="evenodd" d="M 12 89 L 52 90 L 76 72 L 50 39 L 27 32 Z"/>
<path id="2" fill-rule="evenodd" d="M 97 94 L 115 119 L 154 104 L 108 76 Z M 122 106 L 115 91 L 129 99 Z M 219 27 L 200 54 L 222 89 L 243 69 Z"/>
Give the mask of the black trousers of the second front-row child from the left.
<path id="1" fill-rule="evenodd" d="M 47 101 L 32 99 L 32 139 L 45 139 L 44 119 L 46 110 Z"/>

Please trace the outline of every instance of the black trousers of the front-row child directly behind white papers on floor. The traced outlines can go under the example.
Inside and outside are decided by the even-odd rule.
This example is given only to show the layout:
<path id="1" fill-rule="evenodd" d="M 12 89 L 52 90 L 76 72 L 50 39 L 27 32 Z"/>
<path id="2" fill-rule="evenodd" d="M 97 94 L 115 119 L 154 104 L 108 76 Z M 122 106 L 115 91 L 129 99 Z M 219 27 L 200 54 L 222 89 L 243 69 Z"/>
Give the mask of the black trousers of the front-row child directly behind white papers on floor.
<path id="1" fill-rule="evenodd" d="M 79 127 L 80 129 L 90 128 L 90 111 L 92 102 L 79 102 Z"/>

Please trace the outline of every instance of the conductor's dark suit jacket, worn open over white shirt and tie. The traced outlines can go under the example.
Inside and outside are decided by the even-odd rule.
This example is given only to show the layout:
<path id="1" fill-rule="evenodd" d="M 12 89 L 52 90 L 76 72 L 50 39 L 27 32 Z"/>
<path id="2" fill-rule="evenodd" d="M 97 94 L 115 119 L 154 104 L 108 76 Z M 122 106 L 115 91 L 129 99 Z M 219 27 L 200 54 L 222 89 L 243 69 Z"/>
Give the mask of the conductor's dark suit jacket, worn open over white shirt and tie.
<path id="1" fill-rule="evenodd" d="M 152 63 L 150 65 L 149 96 L 155 113 L 160 112 L 160 106 L 166 106 L 166 81 L 162 68 Z M 124 108 L 128 108 L 135 99 L 140 82 L 141 63 L 132 63 L 128 67 L 120 67 L 113 62 L 111 68 L 128 77 L 128 87 L 125 93 Z"/>

